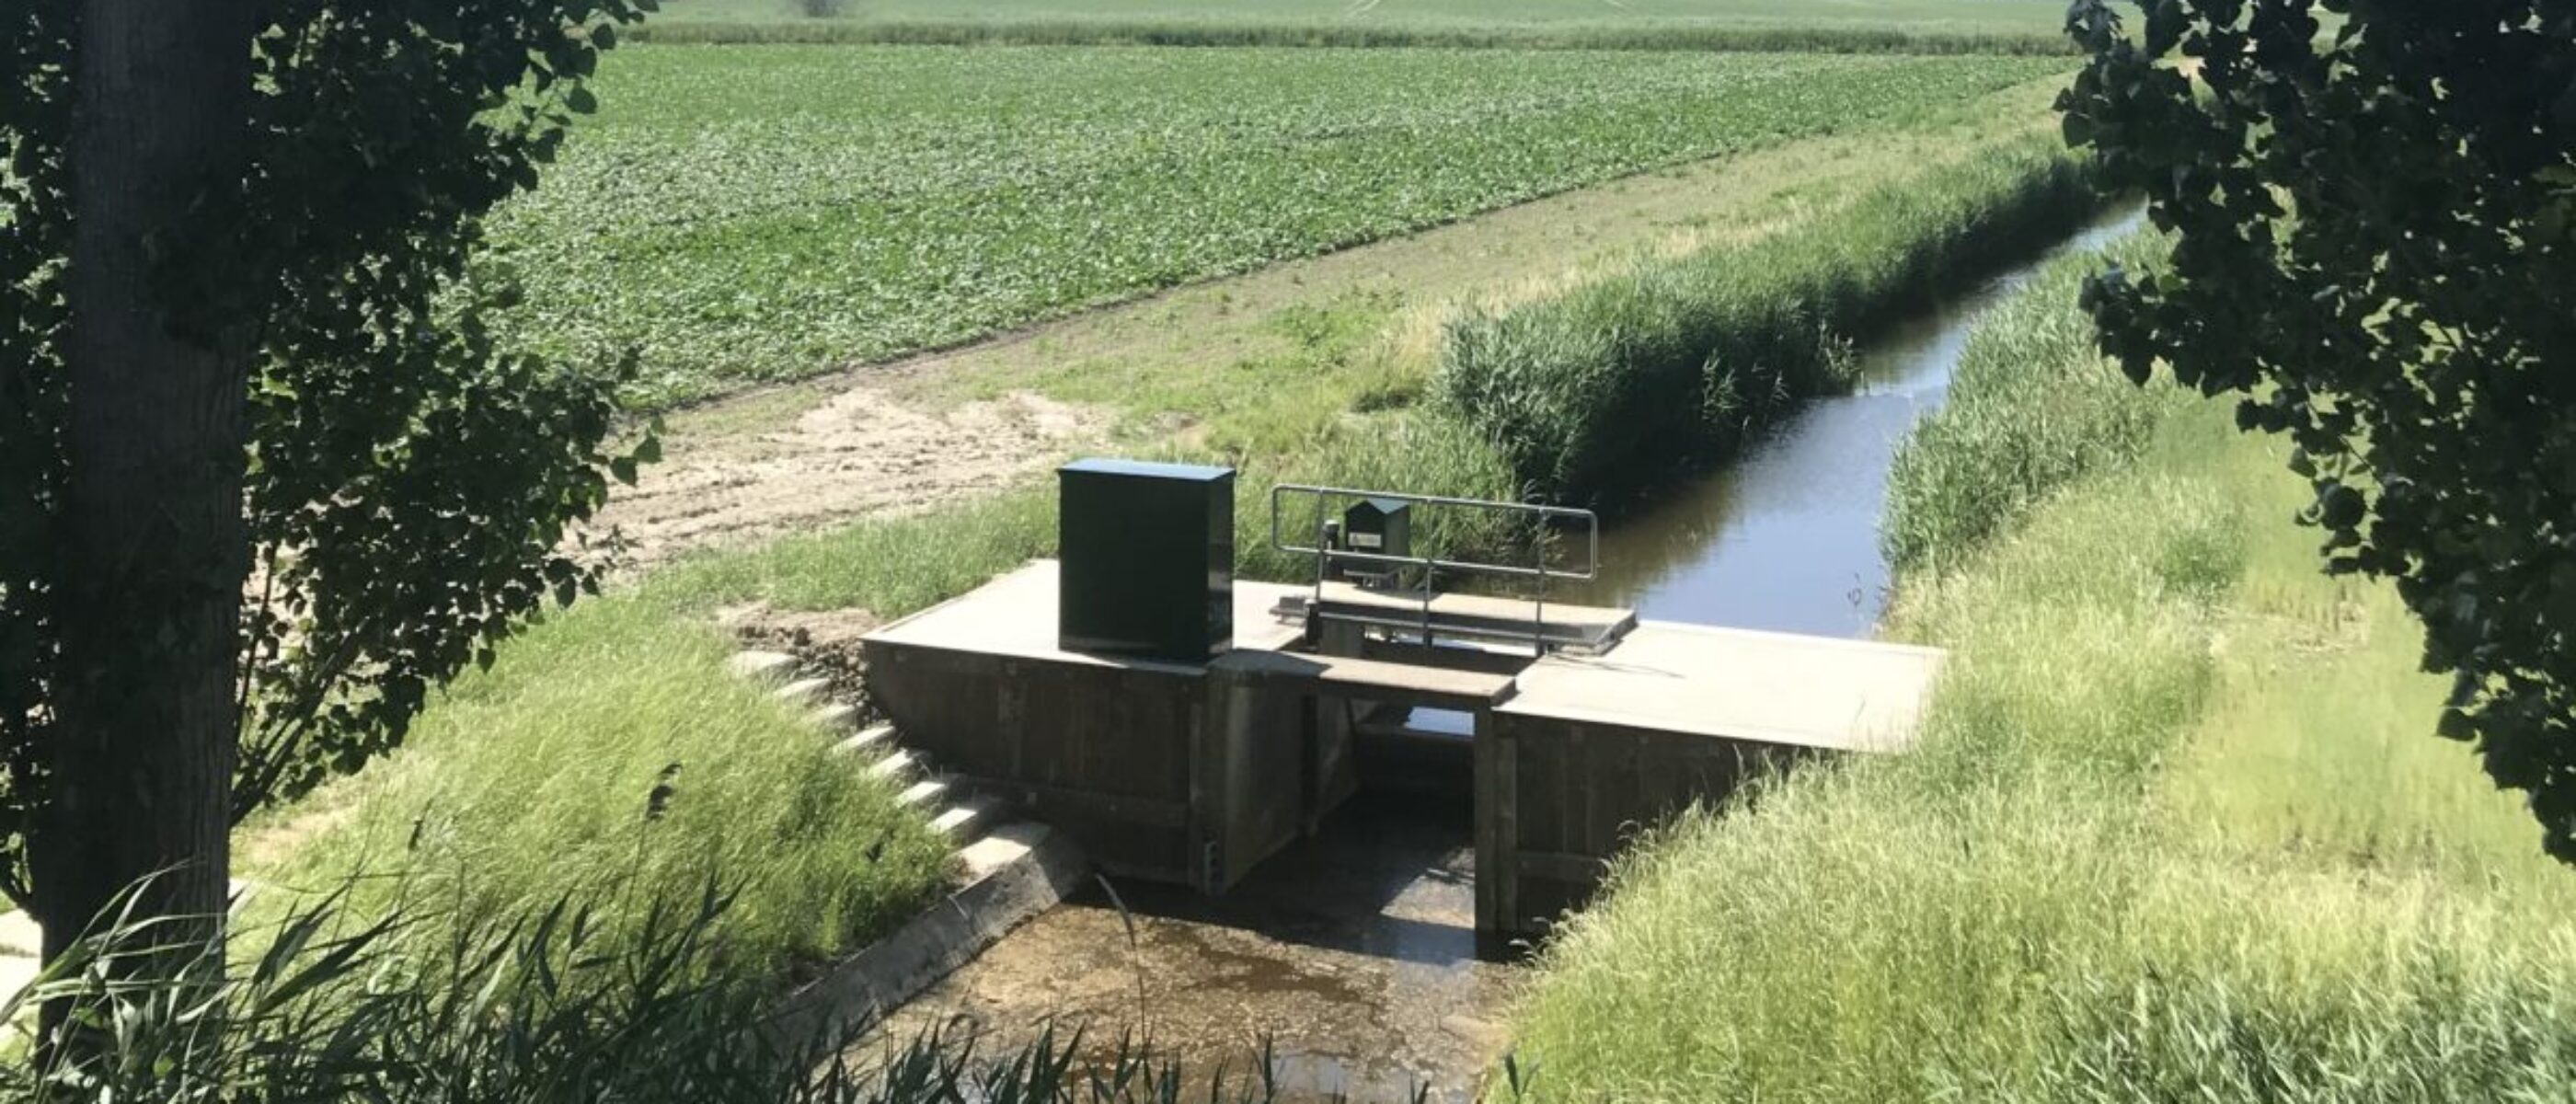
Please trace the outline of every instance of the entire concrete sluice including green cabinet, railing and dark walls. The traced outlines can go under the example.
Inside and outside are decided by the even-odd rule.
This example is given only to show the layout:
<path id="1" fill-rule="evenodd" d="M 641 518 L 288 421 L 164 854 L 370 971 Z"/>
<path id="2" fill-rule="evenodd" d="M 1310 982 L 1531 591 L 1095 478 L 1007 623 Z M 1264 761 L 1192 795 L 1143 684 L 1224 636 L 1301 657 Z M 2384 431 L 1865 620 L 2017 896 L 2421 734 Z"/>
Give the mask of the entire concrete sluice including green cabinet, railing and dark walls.
<path id="1" fill-rule="evenodd" d="M 1579 906 L 1638 826 L 1808 757 L 1893 751 L 1940 651 L 1638 620 L 1546 600 L 1551 564 L 1414 556 L 1414 510 L 1587 512 L 1283 486 L 1309 584 L 1231 579 L 1231 471 L 1066 468 L 1061 561 L 863 641 L 868 690 L 951 785 L 1126 878 L 1221 893 L 1368 787 L 1473 793 L 1476 942 Z M 1311 499 L 1291 538 L 1283 499 Z M 1334 517 L 1332 507 L 1340 510 Z M 1492 574 L 1530 597 L 1443 592 Z"/>

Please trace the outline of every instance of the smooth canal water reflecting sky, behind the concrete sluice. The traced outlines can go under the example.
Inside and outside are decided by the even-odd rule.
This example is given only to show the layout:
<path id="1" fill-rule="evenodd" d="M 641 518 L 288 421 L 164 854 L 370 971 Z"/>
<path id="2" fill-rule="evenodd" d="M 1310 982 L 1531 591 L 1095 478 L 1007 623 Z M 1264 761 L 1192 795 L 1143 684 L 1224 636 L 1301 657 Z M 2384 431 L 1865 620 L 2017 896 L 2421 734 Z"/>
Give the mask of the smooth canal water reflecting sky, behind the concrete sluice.
<path id="1" fill-rule="evenodd" d="M 2094 252 L 2138 221 L 2136 211 L 2097 221 L 2048 260 Z M 1878 517 L 1896 443 L 1947 396 L 1976 317 L 2040 265 L 1996 275 L 1862 347 L 1852 394 L 1806 404 L 1736 463 L 1618 517 L 1602 530 L 1600 579 L 1551 594 L 1659 620 L 1868 636 L 1888 597 Z"/>

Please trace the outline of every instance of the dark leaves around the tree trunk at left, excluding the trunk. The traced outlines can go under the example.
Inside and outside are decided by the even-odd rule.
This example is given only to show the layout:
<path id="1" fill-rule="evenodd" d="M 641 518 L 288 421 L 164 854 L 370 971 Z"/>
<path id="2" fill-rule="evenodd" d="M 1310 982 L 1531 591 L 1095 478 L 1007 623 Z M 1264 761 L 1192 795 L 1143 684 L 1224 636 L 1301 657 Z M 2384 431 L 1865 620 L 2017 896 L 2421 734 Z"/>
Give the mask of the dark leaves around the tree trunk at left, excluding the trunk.
<path id="1" fill-rule="evenodd" d="M 237 808 L 384 751 L 428 687 L 592 569 L 562 553 L 608 476 L 613 378 L 502 350 L 482 216 L 536 183 L 616 26 L 649 0 L 276 0 L 255 57 L 247 170 L 155 242 L 175 324 L 247 329 Z M 62 257 L 75 15 L 0 15 L 0 888 L 46 800 L 67 381 Z M 250 324 L 242 324 L 250 319 Z M 652 455 L 652 440 L 641 445 Z"/>

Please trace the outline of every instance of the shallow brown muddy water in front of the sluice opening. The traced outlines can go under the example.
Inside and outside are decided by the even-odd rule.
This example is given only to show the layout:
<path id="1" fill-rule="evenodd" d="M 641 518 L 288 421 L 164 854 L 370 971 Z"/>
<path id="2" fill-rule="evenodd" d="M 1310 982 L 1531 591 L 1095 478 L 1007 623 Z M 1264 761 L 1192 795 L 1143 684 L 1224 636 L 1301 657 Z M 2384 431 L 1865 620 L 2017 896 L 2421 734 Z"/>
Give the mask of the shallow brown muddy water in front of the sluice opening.
<path id="1" fill-rule="evenodd" d="M 1115 898 L 1110 896 L 1115 890 Z M 1471 1099 L 1517 970 L 1476 960 L 1463 795 L 1363 795 L 1221 898 L 1115 883 L 1028 921 L 881 1032 L 1010 1050 L 1087 1024 L 1236 1078 L 1267 1042 L 1283 1099 Z"/>

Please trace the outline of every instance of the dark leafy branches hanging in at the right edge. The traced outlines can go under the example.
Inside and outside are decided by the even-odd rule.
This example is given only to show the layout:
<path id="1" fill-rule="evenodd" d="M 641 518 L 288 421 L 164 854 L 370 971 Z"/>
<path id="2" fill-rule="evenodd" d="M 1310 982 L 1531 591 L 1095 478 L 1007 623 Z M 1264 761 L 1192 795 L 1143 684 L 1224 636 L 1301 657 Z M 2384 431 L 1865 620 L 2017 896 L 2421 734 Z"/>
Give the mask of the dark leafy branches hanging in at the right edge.
<path id="1" fill-rule="evenodd" d="M 2576 862 L 2576 8 L 2074 8 L 2066 136 L 2177 234 L 2084 301 L 2133 378 L 2298 445 L 2326 569 L 2396 579 L 2439 731 Z"/>

